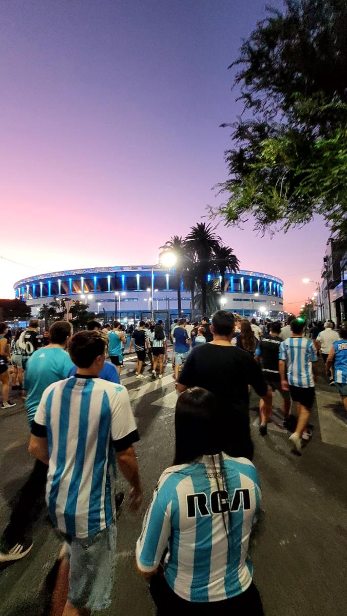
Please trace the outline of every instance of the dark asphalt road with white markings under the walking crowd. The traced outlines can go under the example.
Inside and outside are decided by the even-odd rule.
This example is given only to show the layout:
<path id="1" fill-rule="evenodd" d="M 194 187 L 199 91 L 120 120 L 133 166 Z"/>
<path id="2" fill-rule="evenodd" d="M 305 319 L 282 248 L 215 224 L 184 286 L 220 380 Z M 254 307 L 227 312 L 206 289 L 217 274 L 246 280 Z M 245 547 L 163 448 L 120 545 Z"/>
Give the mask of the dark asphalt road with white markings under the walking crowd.
<path id="1" fill-rule="evenodd" d="M 130 513 L 127 503 L 118 519 L 116 583 L 110 610 L 102 616 L 154 614 L 147 583 L 136 573 L 134 545 L 161 471 L 171 464 L 176 393 L 171 365 L 162 381 L 150 373 L 134 379 L 127 358 L 123 383 L 131 392 L 141 441 L 137 445 L 144 503 Z M 277 394 L 276 394 L 277 396 Z M 17 406 L 0 411 L 0 528 L 10 503 L 32 466 L 27 453 L 28 428 L 20 397 Z M 289 434 L 279 427 L 280 399 L 267 437 L 258 434 L 258 397 L 251 394 L 255 465 L 263 488 L 263 520 L 252 542 L 255 582 L 266 616 L 345 616 L 347 614 L 347 416 L 337 391 L 317 385 L 312 411 L 313 437 L 303 455 L 290 452 Z M 123 487 L 120 480 L 119 488 Z M 0 570 L 0 616 L 47 616 L 50 578 L 60 540 L 47 516 L 35 529 L 35 545 L 25 559 Z"/>

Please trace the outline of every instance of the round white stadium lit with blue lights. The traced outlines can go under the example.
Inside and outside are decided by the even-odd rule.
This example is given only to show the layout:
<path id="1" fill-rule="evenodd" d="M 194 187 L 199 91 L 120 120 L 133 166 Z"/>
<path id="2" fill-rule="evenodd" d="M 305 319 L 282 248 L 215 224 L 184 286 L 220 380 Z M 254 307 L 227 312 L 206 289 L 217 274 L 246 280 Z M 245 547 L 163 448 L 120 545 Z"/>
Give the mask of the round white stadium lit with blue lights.
<path id="1" fill-rule="evenodd" d="M 221 280 L 208 275 L 207 280 Z M 242 317 L 282 317 L 283 281 L 269 274 L 239 270 L 226 274 L 221 307 Z M 15 297 L 27 302 L 35 316 L 54 298 L 85 302 L 100 318 L 136 322 L 152 314 L 158 320 L 178 317 L 178 275 L 158 266 L 95 267 L 36 275 L 18 280 Z M 181 315 L 192 318 L 190 292 L 181 282 Z"/>

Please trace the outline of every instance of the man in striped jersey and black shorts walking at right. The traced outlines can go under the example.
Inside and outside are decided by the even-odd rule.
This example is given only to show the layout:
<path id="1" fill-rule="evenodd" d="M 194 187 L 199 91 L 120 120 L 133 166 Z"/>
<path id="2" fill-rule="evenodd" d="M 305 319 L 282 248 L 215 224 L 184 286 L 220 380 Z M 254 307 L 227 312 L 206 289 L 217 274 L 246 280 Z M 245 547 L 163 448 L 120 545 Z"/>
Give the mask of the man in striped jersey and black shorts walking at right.
<path id="1" fill-rule="evenodd" d="M 292 336 L 280 344 L 279 371 L 281 387 L 290 391 L 293 402 L 298 403 L 298 423 L 289 437 L 293 448 L 301 451 L 303 440 L 311 438 L 308 419 L 314 402 L 314 373 L 312 366 L 317 361 L 312 340 L 303 337 L 306 323 L 296 318 L 290 323 Z M 285 370 L 287 368 L 287 377 Z"/>

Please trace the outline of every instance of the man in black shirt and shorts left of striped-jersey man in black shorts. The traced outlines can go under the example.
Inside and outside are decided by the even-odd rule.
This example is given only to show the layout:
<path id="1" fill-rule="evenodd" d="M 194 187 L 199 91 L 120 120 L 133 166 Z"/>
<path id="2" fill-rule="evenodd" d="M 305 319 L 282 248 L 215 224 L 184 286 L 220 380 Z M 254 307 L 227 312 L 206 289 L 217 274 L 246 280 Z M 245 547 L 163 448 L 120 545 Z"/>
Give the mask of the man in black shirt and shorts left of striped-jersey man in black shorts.
<path id="1" fill-rule="evenodd" d="M 259 432 L 261 436 L 267 434 L 267 423 L 272 415 L 272 396 L 274 391 L 278 391 L 282 397 L 283 408 L 283 427 L 290 428 L 291 422 L 289 419 L 290 412 L 290 394 L 281 387 L 279 373 L 279 351 L 282 340 L 280 339 L 280 322 L 274 321 L 271 323 L 269 336 L 263 336 L 256 347 L 256 360 L 261 360 L 261 368 L 267 384 L 267 395 L 265 399 L 259 401 L 260 426 Z"/>

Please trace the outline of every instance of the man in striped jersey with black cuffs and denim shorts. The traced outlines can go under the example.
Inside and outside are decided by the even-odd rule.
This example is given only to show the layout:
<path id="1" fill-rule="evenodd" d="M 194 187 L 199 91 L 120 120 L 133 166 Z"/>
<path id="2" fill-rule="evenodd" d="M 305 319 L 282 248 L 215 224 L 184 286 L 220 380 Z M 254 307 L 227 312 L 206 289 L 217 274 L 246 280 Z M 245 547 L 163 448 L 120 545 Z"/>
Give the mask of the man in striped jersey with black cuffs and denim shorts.
<path id="1" fill-rule="evenodd" d="M 55 588 L 52 616 L 59 614 L 65 588 L 63 616 L 88 615 L 110 605 L 116 558 L 114 450 L 131 485 L 131 507 L 139 508 L 142 498 L 133 448 L 139 436 L 128 391 L 97 378 L 105 362 L 102 334 L 76 333 L 69 352 L 78 371 L 44 391 L 29 445 L 30 453 L 48 464 L 49 514 L 66 541 L 60 565 L 65 577 L 62 588 Z"/>

